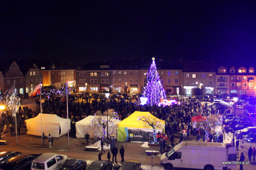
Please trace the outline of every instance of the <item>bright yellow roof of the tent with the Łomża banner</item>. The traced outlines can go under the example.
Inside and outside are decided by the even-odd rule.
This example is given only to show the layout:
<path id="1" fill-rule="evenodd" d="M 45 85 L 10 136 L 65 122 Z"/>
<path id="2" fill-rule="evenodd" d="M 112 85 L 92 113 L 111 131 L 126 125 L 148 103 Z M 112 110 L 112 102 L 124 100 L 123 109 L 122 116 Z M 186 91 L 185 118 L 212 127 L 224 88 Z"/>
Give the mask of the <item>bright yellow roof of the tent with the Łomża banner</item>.
<path id="1" fill-rule="evenodd" d="M 158 119 L 157 117 L 153 116 L 150 112 L 145 111 L 135 111 L 126 119 L 122 120 L 120 123 L 117 124 L 117 127 L 125 127 L 125 128 L 145 128 L 142 123 L 138 120 L 139 116 L 150 116 L 152 119 L 156 119 L 162 125 L 165 125 L 165 120 Z M 157 128 L 158 129 L 158 128 Z"/>

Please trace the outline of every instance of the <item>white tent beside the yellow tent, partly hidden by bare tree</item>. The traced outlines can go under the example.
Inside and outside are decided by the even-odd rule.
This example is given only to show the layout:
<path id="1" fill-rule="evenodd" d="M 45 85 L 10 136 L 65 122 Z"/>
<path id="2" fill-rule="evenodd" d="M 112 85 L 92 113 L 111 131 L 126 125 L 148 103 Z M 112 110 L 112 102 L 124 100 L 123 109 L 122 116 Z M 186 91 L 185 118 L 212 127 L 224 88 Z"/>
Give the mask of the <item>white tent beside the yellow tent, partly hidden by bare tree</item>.
<path id="1" fill-rule="evenodd" d="M 90 138 L 95 137 L 102 137 L 102 131 L 103 128 L 101 127 L 92 127 L 90 124 L 91 119 L 93 119 L 94 116 L 87 116 L 85 119 L 82 119 L 78 122 L 76 122 L 76 137 L 77 138 L 84 138 L 86 132 L 89 132 Z M 120 122 L 120 120 L 113 120 L 114 124 L 111 125 L 108 124 L 108 136 L 115 135 L 116 136 L 116 125 Z M 106 134 L 107 134 L 107 128 L 106 128 Z"/>

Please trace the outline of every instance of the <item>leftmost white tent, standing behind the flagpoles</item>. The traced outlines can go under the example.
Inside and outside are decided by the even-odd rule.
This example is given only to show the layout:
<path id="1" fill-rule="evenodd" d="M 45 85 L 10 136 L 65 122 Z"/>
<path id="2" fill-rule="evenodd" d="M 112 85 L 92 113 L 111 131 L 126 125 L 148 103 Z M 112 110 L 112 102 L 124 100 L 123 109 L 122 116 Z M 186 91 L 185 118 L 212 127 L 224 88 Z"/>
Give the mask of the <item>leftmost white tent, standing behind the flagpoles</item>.
<path id="1" fill-rule="evenodd" d="M 51 134 L 53 137 L 60 137 L 67 134 L 67 119 L 58 117 L 56 114 L 41 114 L 25 120 L 27 124 L 27 134 L 41 136 L 41 115 L 43 119 L 43 132 L 47 136 Z M 70 119 L 69 130 L 70 130 Z"/>

